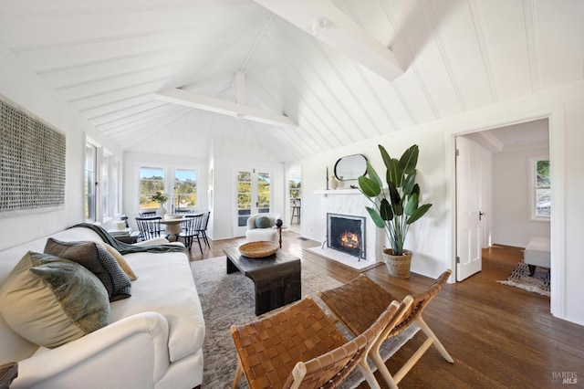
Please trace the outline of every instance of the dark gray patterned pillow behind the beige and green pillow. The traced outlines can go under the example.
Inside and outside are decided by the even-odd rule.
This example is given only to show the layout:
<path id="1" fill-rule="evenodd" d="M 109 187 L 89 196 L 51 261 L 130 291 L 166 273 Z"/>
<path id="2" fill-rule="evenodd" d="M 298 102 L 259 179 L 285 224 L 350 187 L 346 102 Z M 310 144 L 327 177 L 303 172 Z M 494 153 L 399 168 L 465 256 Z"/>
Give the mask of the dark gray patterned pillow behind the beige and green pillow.
<path id="1" fill-rule="evenodd" d="M 47 239 L 45 253 L 75 261 L 95 274 L 108 290 L 110 301 L 131 296 L 130 279 L 104 247 L 95 242 L 62 242 Z"/>

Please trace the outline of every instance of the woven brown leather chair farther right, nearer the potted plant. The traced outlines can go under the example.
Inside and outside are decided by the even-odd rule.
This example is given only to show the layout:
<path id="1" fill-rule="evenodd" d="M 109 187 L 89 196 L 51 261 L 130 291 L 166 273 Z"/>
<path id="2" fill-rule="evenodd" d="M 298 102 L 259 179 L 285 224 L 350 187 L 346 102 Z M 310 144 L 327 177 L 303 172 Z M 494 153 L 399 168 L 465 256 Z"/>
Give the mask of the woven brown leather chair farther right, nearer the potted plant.
<path id="1" fill-rule="evenodd" d="M 403 376 L 408 373 L 413 365 L 418 362 L 423 353 L 434 345 L 443 358 L 454 363 L 453 358 L 446 351 L 443 344 L 438 340 L 433 331 L 422 319 L 422 312 L 428 306 L 428 303 L 443 288 L 444 284 L 450 277 L 452 271 L 446 269 L 438 279 L 435 279 L 430 288 L 412 295 L 412 306 L 405 312 L 400 322 L 396 323 L 391 331 L 384 331 L 377 342 L 370 350 L 369 356 L 375 363 L 385 382 L 392 388 L 396 389 Z M 340 286 L 339 288 L 319 291 L 318 296 L 328 306 L 331 314 L 337 318 L 353 336 L 357 336 L 366 331 L 371 323 L 375 321 L 376 315 L 386 309 L 391 301 L 395 298 L 389 291 L 381 288 L 373 280 L 360 274 L 356 279 Z M 427 339 L 422 343 L 410 359 L 403 364 L 401 369 L 391 375 L 385 362 L 381 358 L 380 347 L 383 342 L 394 338 L 401 332 L 405 331 L 412 323 L 416 323 Z"/>

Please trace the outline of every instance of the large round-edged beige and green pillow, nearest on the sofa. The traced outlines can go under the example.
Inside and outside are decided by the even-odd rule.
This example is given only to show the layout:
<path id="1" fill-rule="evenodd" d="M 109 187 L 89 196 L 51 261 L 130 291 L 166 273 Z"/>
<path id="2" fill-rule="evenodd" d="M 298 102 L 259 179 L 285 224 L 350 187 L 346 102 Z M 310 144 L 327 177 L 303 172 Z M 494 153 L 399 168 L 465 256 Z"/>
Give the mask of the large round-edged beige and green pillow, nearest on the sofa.
<path id="1" fill-rule="evenodd" d="M 0 314 L 20 336 L 54 348 L 108 325 L 108 291 L 76 262 L 29 251 L 0 289 Z"/>

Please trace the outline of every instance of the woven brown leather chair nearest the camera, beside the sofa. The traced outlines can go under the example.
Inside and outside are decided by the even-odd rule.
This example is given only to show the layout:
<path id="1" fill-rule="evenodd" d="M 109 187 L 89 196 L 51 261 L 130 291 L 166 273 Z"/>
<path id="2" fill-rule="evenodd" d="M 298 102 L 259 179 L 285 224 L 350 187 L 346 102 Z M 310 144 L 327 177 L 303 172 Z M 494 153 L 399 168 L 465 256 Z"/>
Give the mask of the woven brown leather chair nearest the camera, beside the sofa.
<path id="1" fill-rule="evenodd" d="M 366 355 L 394 318 L 409 308 L 393 301 L 370 328 L 348 340 L 310 297 L 241 326 L 231 326 L 237 351 L 233 388 L 245 375 L 251 389 L 338 387 L 355 368 L 379 388 Z"/>

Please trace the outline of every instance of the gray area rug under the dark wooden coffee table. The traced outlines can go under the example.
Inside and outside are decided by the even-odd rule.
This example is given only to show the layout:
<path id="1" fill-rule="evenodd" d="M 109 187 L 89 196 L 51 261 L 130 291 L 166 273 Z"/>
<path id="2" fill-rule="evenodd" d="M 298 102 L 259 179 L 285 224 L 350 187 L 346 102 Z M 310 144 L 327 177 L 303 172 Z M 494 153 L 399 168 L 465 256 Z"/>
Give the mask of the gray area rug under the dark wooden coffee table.
<path id="1" fill-rule="evenodd" d="M 229 328 L 232 324 L 255 321 L 277 310 L 255 316 L 254 284 L 241 273 L 226 274 L 225 257 L 194 261 L 191 263 L 193 279 L 199 293 L 205 321 L 203 343 L 203 388 L 231 387 L 237 365 L 235 346 Z M 317 291 L 335 288 L 339 281 L 318 275 L 308 268 L 302 269 L 302 296 L 310 295 L 326 310 Z M 389 357 L 410 340 L 419 329 L 411 327 L 391 342 L 381 347 L 381 355 Z M 345 332 L 346 333 L 346 332 Z M 353 372 L 344 383 L 345 388 L 356 387 L 363 380 L 360 372 Z M 240 388 L 246 388 L 242 379 Z"/>

